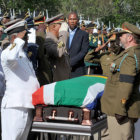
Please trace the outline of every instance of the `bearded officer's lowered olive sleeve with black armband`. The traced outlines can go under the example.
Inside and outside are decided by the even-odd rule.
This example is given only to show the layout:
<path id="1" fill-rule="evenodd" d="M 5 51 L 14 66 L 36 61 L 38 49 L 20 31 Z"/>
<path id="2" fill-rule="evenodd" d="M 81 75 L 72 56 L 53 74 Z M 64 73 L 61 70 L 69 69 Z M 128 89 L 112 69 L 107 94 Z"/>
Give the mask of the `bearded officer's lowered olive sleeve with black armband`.
<path id="1" fill-rule="evenodd" d="M 132 94 L 134 81 L 136 78 L 136 60 L 133 55 L 129 55 L 123 61 L 120 74 L 119 74 L 119 85 L 118 85 L 118 101 L 117 105 L 118 111 L 121 112 L 120 115 L 127 115 L 126 105 L 129 97 Z"/>

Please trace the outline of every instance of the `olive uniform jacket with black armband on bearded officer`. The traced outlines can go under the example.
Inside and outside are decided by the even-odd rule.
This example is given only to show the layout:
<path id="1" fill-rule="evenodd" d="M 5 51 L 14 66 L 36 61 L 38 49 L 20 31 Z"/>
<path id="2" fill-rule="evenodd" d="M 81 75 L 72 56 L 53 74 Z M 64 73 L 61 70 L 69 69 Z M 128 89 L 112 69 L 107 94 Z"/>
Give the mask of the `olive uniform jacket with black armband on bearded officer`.
<path id="1" fill-rule="evenodd" d="M 108 78 L 102 101 L 102 111 L 108 115 L 140 117 L 139 73 L 140 46 L 131 47 L 118 55 L 113 64 L 115 68 Z M 112 64 L 112 65 L 113 65 Z M 137 76 L 137 78 L 136 78 Z M 117 90 L 116 90 L 117 89 Z M 123 93 L 123 94 L 122 94 Z M 137 101 L 137 102 L 136 102 Z M 113 109 L 110 109 L 111 108 Z"/>

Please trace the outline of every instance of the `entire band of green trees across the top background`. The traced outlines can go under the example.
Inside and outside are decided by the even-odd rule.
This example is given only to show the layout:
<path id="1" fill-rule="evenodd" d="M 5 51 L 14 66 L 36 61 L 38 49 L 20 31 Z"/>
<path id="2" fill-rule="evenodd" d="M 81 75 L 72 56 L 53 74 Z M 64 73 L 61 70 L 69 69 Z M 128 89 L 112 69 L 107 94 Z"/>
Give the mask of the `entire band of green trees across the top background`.
<path id="1" fill-rule="evenodd" d="M 0 5 L 3 11 L 10 8 L 17 11 L 30 8 L 31 12 L 47 9 L 50 17 L 75 11 L 84 19 L 98 18 L 106 24 L 111 21 L 115 26 L 124 21 L 140 23 L 140 0 L 0 0 Z"/>

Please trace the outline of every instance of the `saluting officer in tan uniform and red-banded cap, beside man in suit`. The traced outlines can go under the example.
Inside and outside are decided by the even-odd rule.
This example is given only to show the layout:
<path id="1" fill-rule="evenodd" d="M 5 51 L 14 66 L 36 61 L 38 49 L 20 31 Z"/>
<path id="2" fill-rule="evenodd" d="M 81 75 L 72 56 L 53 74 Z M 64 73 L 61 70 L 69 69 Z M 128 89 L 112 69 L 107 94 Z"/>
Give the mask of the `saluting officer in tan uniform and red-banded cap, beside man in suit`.
<path id="1" fill-rule="evenodd" d="M 64 22 L 64 15 L 60 14 L 46 20 L 49 31 L 47 32 L 44 47 L 52 67 L 53 81 L 70 78 L 70 62 L 66 50 L 68 38 L 68 25 Z"/>

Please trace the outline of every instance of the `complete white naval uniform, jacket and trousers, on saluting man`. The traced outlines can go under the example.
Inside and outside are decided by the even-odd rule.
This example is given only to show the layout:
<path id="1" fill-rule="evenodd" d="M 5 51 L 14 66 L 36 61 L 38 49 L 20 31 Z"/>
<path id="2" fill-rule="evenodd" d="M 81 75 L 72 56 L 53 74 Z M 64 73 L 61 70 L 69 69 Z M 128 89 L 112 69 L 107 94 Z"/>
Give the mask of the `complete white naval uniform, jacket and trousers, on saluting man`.
<path id="1" fill-rule="evenodd" d="M 1 54 L 6 80 L 1 109 L 2 140 L 26 140 L 34 108 L 32 93 L 39 88 L 39 83 L 32 63 L 23 50 L 25 41 L 16 38 L 13 44 Z"/>

